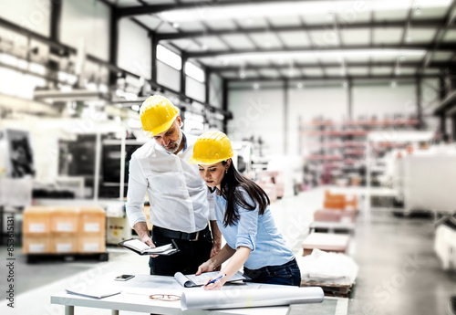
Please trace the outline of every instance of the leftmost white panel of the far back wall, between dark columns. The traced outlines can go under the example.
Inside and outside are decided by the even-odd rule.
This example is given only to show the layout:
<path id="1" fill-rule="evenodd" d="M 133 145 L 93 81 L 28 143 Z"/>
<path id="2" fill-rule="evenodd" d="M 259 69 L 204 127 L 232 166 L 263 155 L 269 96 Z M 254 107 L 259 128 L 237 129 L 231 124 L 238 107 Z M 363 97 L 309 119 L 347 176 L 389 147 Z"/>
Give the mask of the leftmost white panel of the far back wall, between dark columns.
<path id="1" fill-rule="evenodd" d="M 228 123 L 228 136 L 241 141 L 254 136 L 264 141 L 264 155 L 284 154 L 283 89 L 231 90 L 228 108 L 233 120 Z"/>

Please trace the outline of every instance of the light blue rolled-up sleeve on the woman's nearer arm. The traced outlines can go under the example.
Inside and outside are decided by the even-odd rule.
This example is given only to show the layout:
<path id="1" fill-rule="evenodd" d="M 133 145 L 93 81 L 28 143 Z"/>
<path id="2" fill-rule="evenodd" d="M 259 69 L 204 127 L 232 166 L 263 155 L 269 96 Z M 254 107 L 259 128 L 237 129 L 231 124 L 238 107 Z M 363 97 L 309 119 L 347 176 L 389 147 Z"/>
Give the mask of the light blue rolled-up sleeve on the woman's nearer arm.
<path id="1" fill-rule="evenodd" d="M 241 191 L 245 201 L 253 205 L 254 201 L 244 190 Z M 239 205 L 235 205 L 239 212 L 239 221 L 237 227 L 237 247 L 248 247 L 254 252 L 256 247 L 256 234 L 258 231 L 258 206 L 254 210 L 247 210 Z"/>

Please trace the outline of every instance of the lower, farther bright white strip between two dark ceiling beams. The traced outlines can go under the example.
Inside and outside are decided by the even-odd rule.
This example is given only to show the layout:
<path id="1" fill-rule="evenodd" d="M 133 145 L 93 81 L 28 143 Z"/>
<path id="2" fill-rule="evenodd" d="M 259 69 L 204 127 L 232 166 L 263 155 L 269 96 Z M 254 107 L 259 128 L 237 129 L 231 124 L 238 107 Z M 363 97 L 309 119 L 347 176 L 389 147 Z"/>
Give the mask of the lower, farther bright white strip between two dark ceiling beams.
<path id="1" fill-rule="evenodd" d="M 362 49 L 362 50 L 330 50 L 330 51 L 275 51 L 254 52 L 233 55 L 219 55 L 215 58 L 223 61 L 241 61 L 258 59 L 286 59 L 286 58 L 350 58 L 350 57 L 400 57 L 424 56 L 424 49 Z"/>

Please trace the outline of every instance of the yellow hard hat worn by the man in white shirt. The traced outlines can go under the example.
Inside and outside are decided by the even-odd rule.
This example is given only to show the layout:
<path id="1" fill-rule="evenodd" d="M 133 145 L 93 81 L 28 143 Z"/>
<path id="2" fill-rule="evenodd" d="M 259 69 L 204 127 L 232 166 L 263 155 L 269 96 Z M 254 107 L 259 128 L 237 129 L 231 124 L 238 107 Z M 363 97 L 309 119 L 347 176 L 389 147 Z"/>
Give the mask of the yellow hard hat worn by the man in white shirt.
<path id="1" fill-rule="evenodd" d="M 171 128 L 179 109 L 161 95 L 152 95 L 140 107 L 142 130 L 150 137 Z"/>

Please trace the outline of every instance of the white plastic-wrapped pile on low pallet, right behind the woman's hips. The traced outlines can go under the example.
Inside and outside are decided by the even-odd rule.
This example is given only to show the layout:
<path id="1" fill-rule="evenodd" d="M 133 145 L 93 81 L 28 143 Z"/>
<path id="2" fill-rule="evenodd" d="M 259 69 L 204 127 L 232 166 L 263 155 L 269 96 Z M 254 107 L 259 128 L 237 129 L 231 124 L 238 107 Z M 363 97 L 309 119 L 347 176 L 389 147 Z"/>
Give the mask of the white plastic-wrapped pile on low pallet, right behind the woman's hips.
<path id="1" fill-rule="evenodd" d="M 311 255 L 296 257 L 296 261 L 304 282 L 350 286 L 358 275 L 358 264 L 342 253 L 314 249 Z"/>

